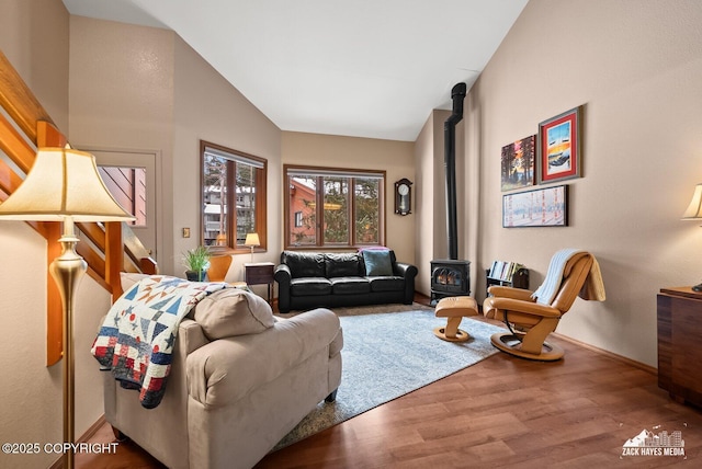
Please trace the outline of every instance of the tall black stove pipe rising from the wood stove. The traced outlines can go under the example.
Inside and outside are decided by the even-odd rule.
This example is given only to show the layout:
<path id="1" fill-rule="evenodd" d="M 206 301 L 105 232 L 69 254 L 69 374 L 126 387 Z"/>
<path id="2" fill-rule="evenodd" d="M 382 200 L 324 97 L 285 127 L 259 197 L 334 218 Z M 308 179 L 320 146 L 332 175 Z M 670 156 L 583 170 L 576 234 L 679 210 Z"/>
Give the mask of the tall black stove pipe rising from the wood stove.
<path id="1" fill-rule="evenodd" d="M 465 83 L 456 83 L 451 90 L 453 112 L 443 125 L 444 169 L 446 174 L 446 233 L 449 237 L 449 259 L 458 259 L 458 228 L 456 215 L 456 124 L 463 119 Z"/>

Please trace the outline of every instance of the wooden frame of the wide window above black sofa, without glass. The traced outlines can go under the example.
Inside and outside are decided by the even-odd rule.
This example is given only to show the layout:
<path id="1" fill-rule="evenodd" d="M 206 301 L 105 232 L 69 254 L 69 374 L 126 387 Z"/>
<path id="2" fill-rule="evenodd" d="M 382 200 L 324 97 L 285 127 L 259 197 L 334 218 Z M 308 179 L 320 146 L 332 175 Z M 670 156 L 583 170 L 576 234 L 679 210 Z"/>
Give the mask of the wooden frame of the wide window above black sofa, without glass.
<path id="1" fill-rule="evenodd" d="M 377 243 L 359 243 L 356 242 L 356 228 L 355 228 L 355 186 L 351 182 L 349 184 L 348 194 L 348 242 L 347 243 L 325 243 L 324 233 L 324 190 L 319 191 L 319 187 L 315 187 L 316 208 L 315 208 L 315 242 L 309 244 L 294 244 L 291 243 L 291 226 L 295 221 L 294 214 L 291 213 L 291 197 L 292 197 L 292 184 L 290 184 L 291 173 L 305 173 L 307 175 L 315 175 L 318 178 L 360 178 L 369 179 L 376 178 L 378 183 L 378 242 Z M 293 174 L 294 175 L 294 174 Z M 286 250 L 309 250 L 309 249 L 325 249 L 325 250 L 346 250 L 358 249 L 364 247 L 385 245 L 386 240 L 386 219 L 387 209 L 385 207 L 386 192 L 387 192 L 387 174 L 384 170 L 369 170 L 369 169 L 350 169 L 350 168 L 329 168 L 329 167 L 312 167 L 303 164 L 283 164 L 283 225 L 284 225 L 284 245 Z"/>

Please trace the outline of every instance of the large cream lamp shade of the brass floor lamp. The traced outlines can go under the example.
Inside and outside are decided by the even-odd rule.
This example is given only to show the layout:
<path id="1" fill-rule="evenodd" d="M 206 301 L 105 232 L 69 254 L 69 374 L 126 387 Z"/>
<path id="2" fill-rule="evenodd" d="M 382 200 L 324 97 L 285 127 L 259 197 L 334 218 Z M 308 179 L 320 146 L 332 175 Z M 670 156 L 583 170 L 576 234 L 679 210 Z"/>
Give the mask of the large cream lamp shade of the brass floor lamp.
<path id="1" fill-rule="evenodd" d="M 126 221 L 92 155 L 64 148 L 41 148 L 18 190 L 0 204 L 0 218 L 35 221 Z"/>

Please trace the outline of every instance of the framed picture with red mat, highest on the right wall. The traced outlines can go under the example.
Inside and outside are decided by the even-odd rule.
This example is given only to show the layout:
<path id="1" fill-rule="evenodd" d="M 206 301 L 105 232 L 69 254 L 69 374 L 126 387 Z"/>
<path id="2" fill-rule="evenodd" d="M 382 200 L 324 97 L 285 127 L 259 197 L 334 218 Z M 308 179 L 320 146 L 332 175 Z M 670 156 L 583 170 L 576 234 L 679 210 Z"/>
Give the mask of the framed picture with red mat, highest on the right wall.
<path id="1" fill-rule="evenodd" d="M 539 124 L 539 184 L 580 178 L 580 114 L 582 106 Z"/>

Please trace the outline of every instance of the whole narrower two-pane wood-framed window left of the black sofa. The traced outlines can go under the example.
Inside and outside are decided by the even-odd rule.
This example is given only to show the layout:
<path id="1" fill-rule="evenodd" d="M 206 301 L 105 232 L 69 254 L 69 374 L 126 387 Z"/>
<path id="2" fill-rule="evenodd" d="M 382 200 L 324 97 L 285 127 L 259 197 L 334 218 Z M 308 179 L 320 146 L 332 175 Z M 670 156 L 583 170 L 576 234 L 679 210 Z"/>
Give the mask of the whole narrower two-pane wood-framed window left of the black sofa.
<path id="1" fill-rule="evenodd" d="M 201 141 L 202 239 L 213 249 L 251 252 L 246 234 L 267 245 L 267 160 Z"/>

